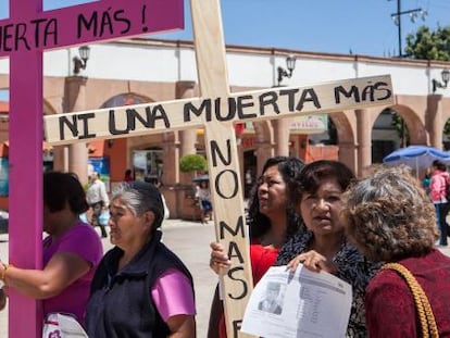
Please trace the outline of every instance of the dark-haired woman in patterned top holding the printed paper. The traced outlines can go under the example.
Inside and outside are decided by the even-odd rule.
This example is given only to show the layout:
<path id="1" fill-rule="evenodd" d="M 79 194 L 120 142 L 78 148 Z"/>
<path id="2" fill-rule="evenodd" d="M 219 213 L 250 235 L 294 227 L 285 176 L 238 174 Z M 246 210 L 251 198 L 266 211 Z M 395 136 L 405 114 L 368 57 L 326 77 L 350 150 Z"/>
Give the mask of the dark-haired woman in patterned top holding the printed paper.
<path id="1" fill-rule="evenodd" d="M 304 166 L 291 185 L 307 231 L 291 238 L 282 249 L 277 265 L 292 271 L 301 263 L 314 271 L 325 271 L 352 286 L 353 300 L 348 337 L 367 337 L 364 291 L 379 265 L 368 262 L 346 239 L 340 212 L 342 192 L 354 179 L 353 173 L 337 161 L 316 161 Z"/>

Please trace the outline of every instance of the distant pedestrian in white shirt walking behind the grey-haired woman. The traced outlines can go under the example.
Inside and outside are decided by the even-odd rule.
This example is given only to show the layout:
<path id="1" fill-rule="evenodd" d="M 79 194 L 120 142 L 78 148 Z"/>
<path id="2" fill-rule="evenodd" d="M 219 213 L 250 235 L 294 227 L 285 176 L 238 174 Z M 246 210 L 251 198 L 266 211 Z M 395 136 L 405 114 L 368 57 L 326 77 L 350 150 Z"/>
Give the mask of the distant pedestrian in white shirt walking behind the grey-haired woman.
<path id="1" fill-rule="evenodd" d="M 107 229 L 104 224 L 100 222 L 100 216 L 103 209 L 108 209 L 110 204 L 110 199 L 108 198 L 107 187 L 104 183 L 100 179 L 99 174 L 93 172 L 90 175 L 90 184 L 86 191 L 86 200 L 91 208 L 91 218 L 90 224 L 92 226 L 99 226 L 101 230 L 101 237 L 108 237 Z"/>

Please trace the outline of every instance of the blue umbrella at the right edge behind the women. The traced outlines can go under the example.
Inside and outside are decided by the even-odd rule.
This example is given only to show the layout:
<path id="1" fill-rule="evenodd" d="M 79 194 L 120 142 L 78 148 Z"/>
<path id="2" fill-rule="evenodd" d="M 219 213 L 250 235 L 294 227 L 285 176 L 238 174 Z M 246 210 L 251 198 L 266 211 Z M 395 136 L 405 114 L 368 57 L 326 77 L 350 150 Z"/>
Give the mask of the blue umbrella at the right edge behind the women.
<path id="1" fill-rule="evenodd" d="M 391 152 L 383 159 L 383 163 L 386 165 L 405 164 L 417 173 L 420 170 L 432 166 L 435 160 L 448 164 L 450 163 L 450 153 L 433 147 L 410 146 Z"/>

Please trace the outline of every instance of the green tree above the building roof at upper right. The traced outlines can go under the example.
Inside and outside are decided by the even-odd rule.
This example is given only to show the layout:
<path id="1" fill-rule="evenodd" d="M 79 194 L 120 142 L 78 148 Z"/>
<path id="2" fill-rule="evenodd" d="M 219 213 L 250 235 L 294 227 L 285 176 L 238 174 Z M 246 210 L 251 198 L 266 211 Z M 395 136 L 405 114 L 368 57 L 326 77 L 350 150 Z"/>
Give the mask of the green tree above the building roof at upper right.
<path id="1" fill-rule="evenodd" d="M 436 30 L 420 26 L 414 35 L 407 36 L 405 52 L 417 60 L 450 61 L 450 26 Z"/>

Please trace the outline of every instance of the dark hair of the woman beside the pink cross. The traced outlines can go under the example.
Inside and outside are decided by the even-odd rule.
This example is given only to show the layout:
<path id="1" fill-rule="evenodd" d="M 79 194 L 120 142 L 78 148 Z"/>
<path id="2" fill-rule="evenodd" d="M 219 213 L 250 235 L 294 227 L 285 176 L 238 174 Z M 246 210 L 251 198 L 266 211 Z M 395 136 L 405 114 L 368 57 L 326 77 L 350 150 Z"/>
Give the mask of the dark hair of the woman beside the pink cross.
<path id="1" fill-rule="evenodd" d="M 66 202 L 71 211 L 76 214 L 82 214 L 89 208 L 85 190 L 78 177 L 73 173 L 45 173 L 42 190 L 43 203 L 50 212 L 63 210 Z"/>

